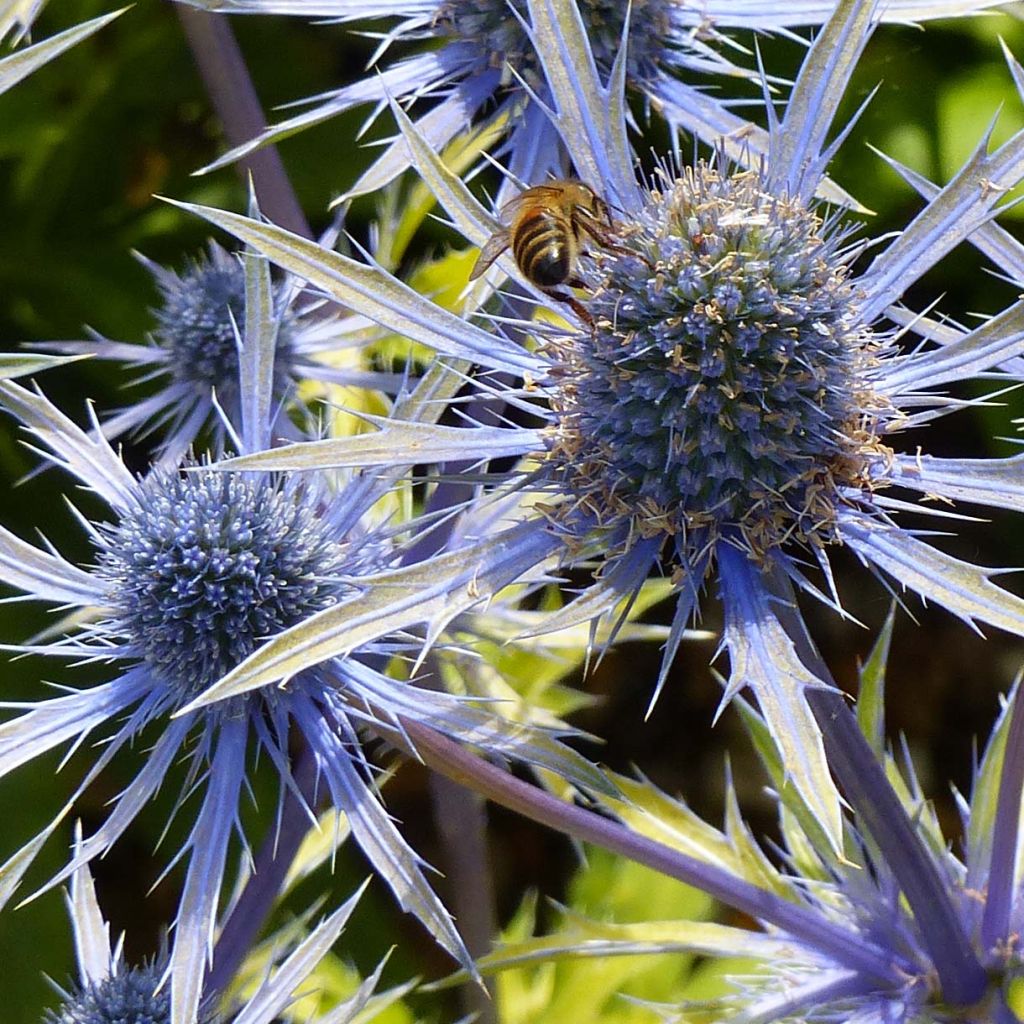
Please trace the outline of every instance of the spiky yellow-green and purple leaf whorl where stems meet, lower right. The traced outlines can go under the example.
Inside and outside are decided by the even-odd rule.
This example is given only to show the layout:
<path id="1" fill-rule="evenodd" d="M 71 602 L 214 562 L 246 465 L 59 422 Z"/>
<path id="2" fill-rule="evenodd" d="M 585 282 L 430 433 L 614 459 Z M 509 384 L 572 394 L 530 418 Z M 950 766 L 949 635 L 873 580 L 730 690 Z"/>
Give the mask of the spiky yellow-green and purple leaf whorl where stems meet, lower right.
<path id="1" fill-rule="evenodd" d="M 1024 705 L 1014 686 L 985 744 L 970 800 L 957 797 L 962 840 L 943 834 L 905 749 L 885 744 L 885 662 L 892 616 L 861 673 L 857 717 L 839 714 L 847 757 L 831 761 L 849 799 L 840 851 L 817 828 L 792 787 L 782 788 L 781 752 L 761 717 L 740 699 L 771 784 L 781 795 L 780 856 L 761 849 L 742 819 L 731 780 L 719 829 L 646 780 L 620 778 L 623 797 L 603 800 L 641 835 L 670 845 L 799 909 L 786 924 L 760 918 L 762 931 L 699 920 L 635 924 L 571 915 L 542 937 L 523 936 L 484 957 L 484 973 L 543 962 L 636 954 L 714 958 L 727 994 L 650 1009 L 658 1019 L 801 1021 L 807 1024 L 1013 1024 L 1024 1013 L 1020 946 L 1021 794 Z M 841 711 L 842 700 L 839 700 Z M 830 754 L 833 751 L 830 751 Z M 916 860 L 918 892 L 904 879 Z M 696 883 L 699 885 L 699 883 Z M 729 902 L 729 886 L 716 893 Z M 945 920 L 942 920 L 945 916 Z M 859 962 L 859 963 L 858 963 Z M 731 976 L 731 977 L 730 977 Z"/>

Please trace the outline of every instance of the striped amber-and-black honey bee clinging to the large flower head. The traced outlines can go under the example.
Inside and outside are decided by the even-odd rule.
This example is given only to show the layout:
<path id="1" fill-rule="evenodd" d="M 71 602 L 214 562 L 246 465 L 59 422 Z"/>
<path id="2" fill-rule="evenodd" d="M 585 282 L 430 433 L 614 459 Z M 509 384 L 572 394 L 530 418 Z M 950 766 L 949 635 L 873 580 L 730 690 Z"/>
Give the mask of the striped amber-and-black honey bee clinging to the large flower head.
<path id="1" fill-rule="evenodd" d="M 501 209 L 506 225 L 487 239 L 473 265 L 469 280 L 479 278 L 506 249 L 512 250 L 522 275 L 545 295 L 568 303 L 578 315 L 590 321 L 572 296 L 560 285 L 579 288 L 577 260 L 585 241 L 609 248 L 614 229 L 608 204 L 582 181 L 549 181 L 534 185 Z"/>

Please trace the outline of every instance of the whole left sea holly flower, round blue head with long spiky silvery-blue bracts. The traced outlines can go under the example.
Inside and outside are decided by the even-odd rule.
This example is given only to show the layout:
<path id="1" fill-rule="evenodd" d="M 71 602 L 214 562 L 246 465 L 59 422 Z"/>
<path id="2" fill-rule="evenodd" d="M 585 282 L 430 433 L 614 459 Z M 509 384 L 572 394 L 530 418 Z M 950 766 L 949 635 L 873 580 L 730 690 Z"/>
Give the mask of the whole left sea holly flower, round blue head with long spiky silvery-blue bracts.
<path id="1" fill-rule="evenodd" d="M 246 282 L 247 307 L 264 310 L 262 317 L 247 318 L 242 348 L 237 436 L 240 450 L 252 452 L 268 443 L 272 429 L 278 322 L 266 302 L 265 261 L 248 261 Z M 397 408 L 402 416 L 439 416 L 461 383 L 459 375 L 438 369 Z M 427 394 L 433 403 L 424 400 Z M 419 650 L 402 632 L 324 660 L 286 687 L 213 709 L 188 708 L 268 636 L 349 598 L 390 601 L 388 573 L 415 542 L 417 524 L 381 523 L 375 507 L 404 470 L 301 480 L 225 475 L 188 464 L 157 467 L 136 479 L 101 435 L 78 427 L 39 392 L 0 383 L 0 406 L 26 425 L 52 463 L 102 499 L 112 516 L 84 523 L 95 550 L 85 568 L 0 530 L 0 579 L 27 598 L 73 612 L 61 623 L 67 635 L 58 629 L 51 634 L 56 639 L 13 649 L 113 667 L 101 685 L 10 706 L 17 714 L 0 726 L 0 774 L 105 730 L 80 793 L 143 729 L 160 724 L 145 765 L 57 878 L 108 850 L 175 762 L 184 761 L 179 802 L 194 791 L 201 796 L 178 855 L 187 855 L 188 866 L 170 953 L 172 1024 L 190 1024 L 199 1006 L 228 849 L 234 835 L 246 842 L 239 802 L 251 755 L 262 752 L 278 771 L 282 801 L 298 796 L 303 791 L 290 760 L 295 735 L 302 737 L 313 769 L 310 802 L 323 797 L 344 812 L 353 838 L 399 903 L 453 955 L 468 962 L 422 861 L 379 802 L 360 728 L 369 723 L 400 741 L 402 721 L 416 721 L 587 788 L 606 787 L 596 769 L 561 743 L 558 733 L 566 730 L 506 722 L 478 700 L 391 678 L 383 671 L 388 660 L 415 658 Z M 309 812 L 312 818 L 311 807 Z M 0 872 L 0 895 L 9 895 L 67 813 L 11 858 Z"/>

